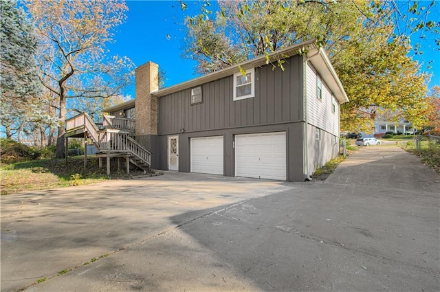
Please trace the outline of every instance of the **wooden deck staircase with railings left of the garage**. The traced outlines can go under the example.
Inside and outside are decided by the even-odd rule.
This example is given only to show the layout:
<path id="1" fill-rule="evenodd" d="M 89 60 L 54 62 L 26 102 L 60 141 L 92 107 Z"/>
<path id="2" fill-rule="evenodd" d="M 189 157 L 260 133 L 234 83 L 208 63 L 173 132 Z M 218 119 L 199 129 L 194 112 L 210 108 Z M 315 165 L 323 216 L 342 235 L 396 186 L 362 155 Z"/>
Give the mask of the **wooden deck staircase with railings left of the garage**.
<path id="1" fill-rule="evenodd" d="M 151 172 L 151 152 L 130 137 L 134 133 L 134 120 L 104 115 L 102 129 L 87 113 L 80 113 L 66 121 L 65 137 L 89 138 L 98 149 L 100 167 L 102 157 L 107 158 L 107 174 L 110 172 L 111 157 L 125 157 L 126 169 L 129 162 L 144 172 Z"/>

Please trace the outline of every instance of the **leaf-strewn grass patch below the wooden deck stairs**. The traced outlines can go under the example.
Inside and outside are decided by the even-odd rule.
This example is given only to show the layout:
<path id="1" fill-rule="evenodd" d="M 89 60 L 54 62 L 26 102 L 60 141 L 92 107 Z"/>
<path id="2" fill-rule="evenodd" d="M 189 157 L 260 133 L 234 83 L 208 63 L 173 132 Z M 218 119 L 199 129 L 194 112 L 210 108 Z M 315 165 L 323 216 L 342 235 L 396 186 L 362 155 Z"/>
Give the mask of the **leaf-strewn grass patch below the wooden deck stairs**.
<path id="1" fill-rule="evenodd" d="M 2 195 L 14 194 L 30 190 L 87 185 L 105 179 L 129 178 L 124 172 L 116 169 L 117 164 L 113 161 L 111 168 L 111 175 L 108 177 L 105 167 L 102 170 L 98 169 L 98 158 L 90 156 L 87 157 L 87 169 L 84 168 L 83 156 L 69 157 L 67 163 L 65 159 L 40 159 L 1 164 L 0 192 Z"/>

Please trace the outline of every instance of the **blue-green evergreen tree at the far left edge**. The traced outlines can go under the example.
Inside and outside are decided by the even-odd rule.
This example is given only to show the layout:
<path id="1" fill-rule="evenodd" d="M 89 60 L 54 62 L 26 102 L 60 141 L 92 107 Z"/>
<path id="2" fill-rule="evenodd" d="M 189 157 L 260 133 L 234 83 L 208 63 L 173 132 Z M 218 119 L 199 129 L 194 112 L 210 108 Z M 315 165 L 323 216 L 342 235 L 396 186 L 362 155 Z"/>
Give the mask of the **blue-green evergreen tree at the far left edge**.
<path id="1" fill-rule="evenodd" d="M 42 87 L 37 77 L 34 54 L 37 36 L 23 8 L 17 2 L 1 1 L 0 117 L 6 137 L 25 128 L 52 123 L 45 115 Z"/>

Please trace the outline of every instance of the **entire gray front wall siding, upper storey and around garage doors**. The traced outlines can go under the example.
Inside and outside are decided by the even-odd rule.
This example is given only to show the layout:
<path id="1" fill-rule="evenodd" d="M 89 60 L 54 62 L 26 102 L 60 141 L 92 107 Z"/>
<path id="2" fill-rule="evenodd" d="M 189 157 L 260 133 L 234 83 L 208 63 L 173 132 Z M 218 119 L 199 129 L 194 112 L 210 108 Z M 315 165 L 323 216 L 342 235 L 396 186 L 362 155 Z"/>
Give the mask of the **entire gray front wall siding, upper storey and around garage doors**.
<path id="1" fill-rule="evenodd" d="M 190 138 L 221 135 L 224 175 L 234 176 L 234 135 L 285 131 L 287 180 L 303 180 L 303 65 L 303 56 L 296 55 L 284 71 L 256 67 L 254 98 L 233 101 L 232 75 L 201 85 L 200 104 L 191 105 L 190 88 L 162 96 L 157 150 L 167 149 L 168 135 L 179 135 L 179 171 L 190 172 Z M 157 162 L 168 168 L 167 155 Z"/>

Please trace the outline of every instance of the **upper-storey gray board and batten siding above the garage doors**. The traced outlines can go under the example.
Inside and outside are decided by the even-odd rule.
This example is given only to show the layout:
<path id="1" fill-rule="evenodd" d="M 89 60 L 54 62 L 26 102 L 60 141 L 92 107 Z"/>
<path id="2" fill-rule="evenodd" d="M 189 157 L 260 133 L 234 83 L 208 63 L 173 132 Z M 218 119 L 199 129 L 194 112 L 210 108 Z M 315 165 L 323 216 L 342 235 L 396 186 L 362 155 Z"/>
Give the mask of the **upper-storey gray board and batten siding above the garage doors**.
<path id="1" fill-rule="evenodd" d="M 284 67 L 255 69 L 254 98 L 233 101 L 232 76 L 201 85 L 200 104 L 191 105 L 190 88 L 159 98 L 157 134 L 303 121 L 303 57 L 289 58 Z"/>

